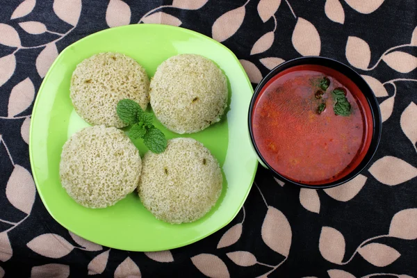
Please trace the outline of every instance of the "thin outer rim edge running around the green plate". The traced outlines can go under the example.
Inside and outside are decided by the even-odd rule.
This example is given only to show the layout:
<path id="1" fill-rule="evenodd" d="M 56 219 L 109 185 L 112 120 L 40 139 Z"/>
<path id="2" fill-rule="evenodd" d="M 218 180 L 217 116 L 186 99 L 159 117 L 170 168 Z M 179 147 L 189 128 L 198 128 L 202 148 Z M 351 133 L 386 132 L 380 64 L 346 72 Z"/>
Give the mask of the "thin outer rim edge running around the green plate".
<path id="1" fill-rule="evenodd" d="M 67 45 L 67 47 L 65 47 L 63 49 L 63 51 L 61 51 L 58 54 L 58 56 L 55 58 L 54 62 L 49 67 L 49 69 L 47 71 L 47 74 L 45 74 L 44 78 L 42 79 L 42 83 L 41 83 L 41 85 L 40 85 L 40 87 L 38 89 L 38 92 L 37 92 L 35 101 L 33 103 L 33 109 L 31 111 L 32 113 L 31 113 L 31 124 L 29 126 L 29 144 L 28 144 L 28 147 L 29 147 L 29 161 L 30 161 L 30 164 L 31 164 L 31 172 L 32 172 L 32 176 L 33 176 L 33 181 L 34 181 L 35 186 L 36 186 L 36 191 L 37 191 L 38 195 L 40 196 L 40 199 L 42 200 L 43 206 L 47 209 L 49 215 L 51 215 L 51 217 L 54 218 L 54 220 L 56 222 L 58 222 L 58 224 L 60 224 L 62 227 L 64 227 L 68 231 L 71 231 L 73 234 L 76 234 L 77 236 L 79 236 L 79 234 L 77 234 L 76 232 L 72 231 L 72 229 L 69 229 L 67 227 L 67 224 L 64 224 L 60 220 L 56 219 L 55 215 L 51 212 L 49 206 L 46 204 L 46 201 L 44 199 L 44 196 L 42 195 L 42 193 L 40 193 L 40 190 L 39 190 L 40 185 L 39 185 L 38 177 L 35 174 L 35 165 L 34 165 L 34 162 L 33 162 L 33 160 L 34 160 L 34 158 L 33 158 L 33 156 L 34 156 L 34 154 L 33 154 L 34 147 L 33 147 L 33 144 L 32 144 L 32 138 L 33 138 L 33 132 L 34 132 L 33 131 L 33 123 L 35 122 L 33 119 L 35 118 L 35 115 L 37 115 L 36 113 L 33 113 L 33 112 L 38 108 L 38 105 L 39 105 L 39 99 L 40 99 L 39 98 L 39 92 L 44 87 L 44 85 L 46 83 L 45 80 L 47 80 L 48 76 L 51 74 L 54 66 L 58 63 L 58 60 L 60 60 L 60 57 L 63 56 L 65 54 L 65 51 L 68 51 L 70 49 L 70 47 L 72 47 L 74 44 L 77 44 L 77 43 L 79 43 L 79 42 L 81 42 L 81 41 L 83 41 L 85 39 L 88 39 L 88 38 L 90 39 L 91 37 L 94 37 L 94 36 L 96 36 L 97 34 L 100 34 L 100 33 L 106 33 L 106 32 L 109 32 L 109 31 L 114 32 L 115 30 L 121 30 L 121 29 L 124 29 L 124 28 L 147 28 L 147 26 L 158 26 L 157 28 L 172 28 L 172 29 L 180 30 L 180 31 L 185 32 L 185 33 L 190 33 L 190 34 L 196 35 L 197 37 L 203 38 L 205 40 L 211 40 L 211 42 L 220 45 L 223 49 L 225 49 L 226 51 L 228 51 L 229 54 L 231 54 L 231 57 L 232 58 L 234 58 L 234 60 L 236 61 L 237 65 L 240 67 L 240 69 L 242 70 L 242 72 L 243 72 L 243 74 L 245 76 L 245 79 L 246 79 L 246 81 L 247 81 L 247 83 L 248 83 L 248 85 L 250 87 L 250 90 L 252 92 L 252 95 L 254 94 L 254 88 L 253 88 L 252 83 L 251 83 L 251 81 L 249 79 L 249 76 L 247 76 L 247 73 L 246 73 L 243 65 L 240 63 L 240 61 L 236 57 L 236 54 L 234 54 L 233 51 L 231 51 L 228 47 L 226 47 L 224 44 L 218 42 L 217 40 L 214 40 L 213 38 L 210 38 L 207 35 L 204 35 L 204 34 L 199 33 L 197 31 L 190 30 L 188 28 L 183 28 L 183 27 L 179 27 L 179 26 L 171 26 L 171 25 L 166 25 L 166 24 L 129 24 L 129 25 L 124 25 L 124 26 L 117 26 L 117 27 L 114 27 L 114 28 L 106 28 L 104 30 L 97 31 L 97 32 L 92 33 L 90 35 L 86 35 L 85 37 L 83 37 L 83 38 L 81 38 L 79 40 L 76 40 L 75 42 L 72 42 L 71 44 Z M 248 134 L 249 134 L 249 131 L 248 131 Z M 182 243 L 179 243 L 179 244 L 178 243 L 172 244 L 172 245 L 168 246 L 165 249 L 161 249 L 161 248 L 151 248 L 151 249 L 149 249 L 148 248 L 146 250 L 138 249 L 138 248 L 134 248 L 134 247 L 128 250 L 128 249 L 124 249 L 124 248 L 117 247 L 117 246 L 115 246 L 113 244 L 103 244 L 103 243 L 98 243 L 97 241 L 91 240 L 89 238 L 85 238 L 85 239 L 90 240 L 92 243 L 96 243 L 96 244 L 103 245 L 103 246 L 106 246 L 106 247 L 115 248 L 117 250 L 126 250 L 126 251 L 133 251 L 133 252 L 155 252 L 155 251 L 162 251 L 162 250 L 172 250 L 172 249 L 175 249 L 175 248 L 179 248 L 179 247 L 183 247 L 183 246 L 190 245 L 192 243 L 196 243 L 197 241 L 202 240 L 202 239 L 204 239 L 204 238 L 206 238 L 208 236 L 211 236 L 216 231 L 219 231 L 220 229 L 226 227 L 231 221 L 233 221 L 236 218 L 236 215 L 238 215 L 238 213 L 242 209 L 243 205 L 245 204 L 245 201 L 247 199 L 247 196 L 249 195 L 250 190 L 252 189 L 252 186 L 253 186 L 253 183 L 254 183 L 254 179 L 255 179 L 255 176 L 256 176 L 256 171 L 257 171 L 257 168 L 259 166 L 259 163 L 257 161 L 256 156 L 254 156 L 254 161 L 256 161 L 256 165 L 254 166 L 254 170 L 253 170 L 253 173 L 252 173 L 252 178 L 251 178 L 251 181 L 250 181 L 250 186 L 248 187 L 248 189 L 247 189 L 244 197 L 242 198 L 242 200 L 241 200 L 241 202 L 239 204 L 239 208 L 236 210 L 236 212 L 232 215 L 232 217 L 227 222 L 224 222 L 223 224 L 219 225 L 218 227 L 216 227 L 215 229 L 213 229 L 212 231 L 209 231 L 208 233 L 206 233 L 204 235 L 196 236 L 195 238 L 192 238 L 190 240 L 184 240 Z"/>

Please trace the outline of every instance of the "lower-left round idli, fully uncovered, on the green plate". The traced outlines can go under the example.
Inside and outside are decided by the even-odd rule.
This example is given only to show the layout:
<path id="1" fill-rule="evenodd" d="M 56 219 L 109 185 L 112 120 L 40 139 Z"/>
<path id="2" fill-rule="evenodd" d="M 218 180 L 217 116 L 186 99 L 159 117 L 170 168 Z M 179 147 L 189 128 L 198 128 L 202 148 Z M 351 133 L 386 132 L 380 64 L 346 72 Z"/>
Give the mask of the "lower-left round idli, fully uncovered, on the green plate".
<path id="1" fill-rule="evenodd" d="M 123 131 L 90 126 L 65 142 L 60 181 L 79 204 L 105 208 L 135 190 L 141 170 L 138 149 Z"/>

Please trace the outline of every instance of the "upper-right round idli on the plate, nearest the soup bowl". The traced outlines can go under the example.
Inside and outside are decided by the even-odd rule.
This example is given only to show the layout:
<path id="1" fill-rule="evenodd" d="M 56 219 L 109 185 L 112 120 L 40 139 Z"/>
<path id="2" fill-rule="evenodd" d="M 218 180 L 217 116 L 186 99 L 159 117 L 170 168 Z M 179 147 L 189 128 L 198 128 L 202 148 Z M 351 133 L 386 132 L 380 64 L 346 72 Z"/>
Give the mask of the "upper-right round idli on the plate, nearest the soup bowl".
<path id="1" fill-rule="evenodd" d="M 227 106 L 227 79 L 203 56 L 181 54 L 158 66 L 149 86 L 158 120 L 176 133 L 193 133 L 219 122 Z"/>

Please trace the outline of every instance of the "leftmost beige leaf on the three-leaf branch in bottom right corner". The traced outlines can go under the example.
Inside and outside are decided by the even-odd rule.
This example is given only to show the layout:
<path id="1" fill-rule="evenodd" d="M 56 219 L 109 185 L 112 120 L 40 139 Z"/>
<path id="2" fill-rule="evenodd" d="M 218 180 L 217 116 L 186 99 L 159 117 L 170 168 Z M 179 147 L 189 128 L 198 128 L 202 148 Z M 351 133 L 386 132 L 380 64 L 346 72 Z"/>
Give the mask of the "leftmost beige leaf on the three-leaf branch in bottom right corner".
<path id="1" fill-rule="evenodd" d="M 340 265 L 345 256 L 345 238 L 340 231 L 332 227 L 322 227 L 318 250 L 323 258 L 331 263 Z"/>

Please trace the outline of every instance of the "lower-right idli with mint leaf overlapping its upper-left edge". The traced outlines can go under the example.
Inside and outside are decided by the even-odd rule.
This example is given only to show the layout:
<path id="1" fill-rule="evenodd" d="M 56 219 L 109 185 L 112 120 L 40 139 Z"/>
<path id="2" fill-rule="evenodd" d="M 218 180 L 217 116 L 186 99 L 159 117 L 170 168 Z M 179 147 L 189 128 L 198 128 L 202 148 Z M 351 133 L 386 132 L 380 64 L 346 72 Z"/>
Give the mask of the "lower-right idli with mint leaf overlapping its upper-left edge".
<path id="1" fill-rule="evenodd" d="M 218 161 L 202 143 L 175 138 L 165 152 L 145 154 L 138 193 L 156 218 L 180 224 L 210 211 L 222 192 L 222 181 Z"/>

